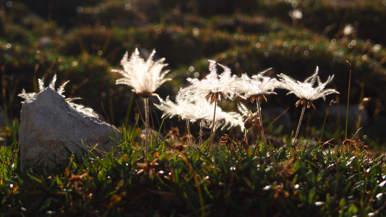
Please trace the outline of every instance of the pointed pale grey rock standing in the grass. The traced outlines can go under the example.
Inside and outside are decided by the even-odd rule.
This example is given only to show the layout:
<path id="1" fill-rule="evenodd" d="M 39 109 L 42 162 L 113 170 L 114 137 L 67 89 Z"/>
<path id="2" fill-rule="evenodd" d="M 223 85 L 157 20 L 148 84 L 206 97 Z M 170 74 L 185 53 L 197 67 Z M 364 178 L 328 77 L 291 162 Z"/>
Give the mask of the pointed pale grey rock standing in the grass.
<path id="1" fill-rule="evenodd" d="M 74 153 L 77 148 L 82 148 L 81 139 L 85 149 L 97 143 L 96 148 L 106 152 L 115 147 L 109 138 L 114 138 L 111 125 L 76 111 L 49 87 L 26 100 L 20 116 L 19 154 L 22 167 L 32 166 L 38 161 L 38 165 L 45 166 L 49 158 L 59 161 L 67 155 L 64 147 Z M 117 129 L 115 131 L 120 138 L 122 133 Z"/>

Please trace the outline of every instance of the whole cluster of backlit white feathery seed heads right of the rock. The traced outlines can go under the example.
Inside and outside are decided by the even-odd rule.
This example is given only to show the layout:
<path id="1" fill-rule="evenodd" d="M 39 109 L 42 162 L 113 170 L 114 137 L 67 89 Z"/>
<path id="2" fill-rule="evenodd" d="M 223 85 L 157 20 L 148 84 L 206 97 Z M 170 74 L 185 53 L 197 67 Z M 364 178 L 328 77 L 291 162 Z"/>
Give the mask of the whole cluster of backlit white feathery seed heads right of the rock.
<path id="1" fill-rule="evenodd" d="M 156 62 L 152 60 L 154 53 L 155 51 L 152 52 L 146 62 L 139 56 L 137 49 L 135 49 L 130 59 L 128 58 L 128 53 L 126 53 L 121 61 L 124 70 L 113 70 L 124 76 L 124 78 L 117 80 L 117 84 L 131 86 L 135 93 L 146 99 L 156 95 L 154 91 L 166 81 L 164 76 L 168 71 L 162 72 L 162 68 L 166 66 L 166 64 L 163 64 L 165 59 L 160 59 Z M 223 70 L 221 74 L 217 72 L 217 65 Z M 325 86 L 332 81 L 334 76 L 329 76 L 325 82 L 320 81 L 318 67 L 315 73 L 303 82 L 297 81 L 283 73 L 278 75 L 278 79 L 267 77 L 265 75 L 269 70 L 271 69 L 262 71 L 251 78 L 247 74 L 237 77 L 232 75 L 230 68 L 227 66 L 218 64 L 214 60 L 209 60 L 210 73 L 204 79 L 188 78 L 187 81 L 190 83 L 190 86 L 178 92 L 176 102 L 172 102 L 169 97 L 166 100 L 158 97 L 160 103 L 156 104 L 156 107 L 164 112 L 162 117 L 177 116 L 181 120 L 186 120 L 188 124 L 189 122 L 198 122 L 201 126 L 201 131 L 202 127 L 211 127 L 211 134 L 214 134 L 215 129 L 220 126 L 222 126 L 222 129 L 225 127 L 227 129 L 240 127 L 241 131 L 247 131 L 247 128 L 251 127 L 253 121 L 255 123 L 259 122 L 261 127 L 261 100 L 264 99 L 266 101 L 266 95 L 276 94 L 274 92 L 276 88 L 286 89 L 289 91 L 288 94 L 294 93 L 299 98 L 298 102 L 295 103 L 296 106 L 304 104 L 301 118 L 303 117 L 305 107 L 312 106 L 315 108 L 313 105 L 314 100 L 318 98 L 325 100 L 328 94 L 338 93 L 334 89 L 325 89 Z M 220 107 L 217 107 L 217 101 L 221 97 L 228 100 L 249 98 L 251 102 L 256 100 L 257 112 L 253 114 L 242 104 L 239 104 L 241 114 L 222 111 Z M 148 112 L 147 109 L 146 112 Z M 245 118 L 244 120 L 243 117 Z M 298 130 L 300 123 L 301 119 Z M 266 143 L 262 127 L 261 134 L 262 141 Z M 209 142 L 209 148 L 211 142 Z"/>

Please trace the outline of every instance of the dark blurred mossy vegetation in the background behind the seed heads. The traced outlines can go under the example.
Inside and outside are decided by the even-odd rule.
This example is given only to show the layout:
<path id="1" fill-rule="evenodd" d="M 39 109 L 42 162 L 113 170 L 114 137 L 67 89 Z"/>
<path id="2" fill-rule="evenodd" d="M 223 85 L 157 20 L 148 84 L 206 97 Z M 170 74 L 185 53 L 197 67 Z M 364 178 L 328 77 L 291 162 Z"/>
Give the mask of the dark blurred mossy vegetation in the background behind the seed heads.
<path id="1" fill-rule="evenodd" d="M 301 134 L 320 135 L 328 103 L 327 141 L 344 139 L 349 68 L 352 64 L 349 133 L 359 127 L 366 144 L 376 147 L 386 137 L 386 1 L 385 0 L 24 0 L 0 1 L 0 71 L 2 94 L 0 125 L 3 141 L 9 126 L 19 122 L 24 88 L 37 91 L 37 79 L 57 86 L 70 80 L 66 97 L 93 108 L 116 126 L 132 125 L 142 100 L 128 86 L 115 85 L 124 53 L 135 47 L 146 58 L 166 58 L 172 81 L 157 90 L 162 98 L 174 96 L 186 86 L 186 78 L 203 78 L 207 59 L 229 66 L 233 73 L 253 75 L 273 68 L 269 76 L 285 73 L 298 80 L 311 75 L 335 74 L 332 87 L 340 94 L 308 109 Z M 46 84 L 47 86 L 47 84 Z M 267 133 L 289 134 L 297 125 L 301 108 L 293 95 L 278 90 L 262 104 L 264 124 L 286 112 Z M 369 100 L 363 99 L 367 97 Z M 128 107 L 132 98 L 132 107 Z M 149 99 L 151 104 L 156 97 Z M 103 107 L 106 113 L 103 111 Z M 139 105 L 137 107 L 137 104 Z M 243 102 L 252 110 L 256 105 Z M 237 110 L 223 101 L 225 110 Z M 160 112 L 151 107 L 152 115 Z M 154 117 L 154 122 L 156 122 Z M 166 120 L 179 126 L 178 119 Z M 154 124 L 157 128 L 157 124 Z M 184 125 L 181 125 L 185 127 Z M 343 135 L 343 136 L 342 136 Z M 340 140 L 339 140 L 340 139 Z M 11 140 L 12 141 L 12 140 Z"/>

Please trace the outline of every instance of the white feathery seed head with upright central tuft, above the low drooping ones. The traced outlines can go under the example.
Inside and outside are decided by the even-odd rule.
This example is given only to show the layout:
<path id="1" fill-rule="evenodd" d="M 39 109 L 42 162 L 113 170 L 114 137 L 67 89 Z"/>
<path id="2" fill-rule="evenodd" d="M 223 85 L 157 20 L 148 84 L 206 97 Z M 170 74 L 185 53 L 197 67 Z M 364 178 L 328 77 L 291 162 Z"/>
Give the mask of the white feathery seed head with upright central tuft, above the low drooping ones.
<path id="1" fill-rule="evenodd" d="M 241 97 L 240 93 L 243 92 L 243 87 L 236 82 L 237 79 L 234 76 L 231 76 L 230 68 L 218 64 L 224 70 L 221 75 L 218 75 L 216 61 L 209 60 L 209 62 L 210 73 L 205 76 L 203 80 L 188 78 L 187 81 L 191 83 L 191 86 L 182 89 L 178 93 L 177 101 L 189 100 L 191 98 L 203 99 L 207 97 L 210 97 L 212 101 L 213 98 L 217 97 L 217 100 L 219 100 L 221 96 L 232 100 L 234 97 Z"/>

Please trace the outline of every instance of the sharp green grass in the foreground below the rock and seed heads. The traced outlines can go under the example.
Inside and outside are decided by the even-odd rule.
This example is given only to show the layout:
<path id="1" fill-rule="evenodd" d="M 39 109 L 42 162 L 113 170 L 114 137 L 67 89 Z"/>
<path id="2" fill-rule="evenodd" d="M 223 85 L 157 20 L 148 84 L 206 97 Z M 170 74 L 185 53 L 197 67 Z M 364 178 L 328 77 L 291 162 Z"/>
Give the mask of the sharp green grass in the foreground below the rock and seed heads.
<path id="1" fill-rule="evenodd" d="M 138 131 L 123 131 L 118 148 L 102 157 L 78 149 L 45 167 L 20 168 L 17 146 L 2 146 L 1 215 L 386 215 L 383 156 L 369 159 L 361 149 L 325 156 L 319 145 L 301 148 L 298 158 L 262 144 L 179 152 L 159 136 L 147 159 L 158 165 L 145 166 Z"/>

